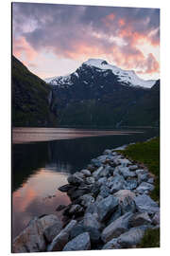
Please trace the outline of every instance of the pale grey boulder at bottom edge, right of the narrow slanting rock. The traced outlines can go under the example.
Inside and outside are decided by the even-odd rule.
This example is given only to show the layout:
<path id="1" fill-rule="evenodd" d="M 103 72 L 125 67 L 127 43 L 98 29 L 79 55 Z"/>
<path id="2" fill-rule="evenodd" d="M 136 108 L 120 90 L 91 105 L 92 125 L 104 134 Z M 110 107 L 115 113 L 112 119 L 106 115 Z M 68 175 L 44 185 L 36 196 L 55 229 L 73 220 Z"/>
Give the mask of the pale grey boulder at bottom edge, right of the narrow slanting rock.
<path id="1" fill-rule="evenodd" d="M 88 232 L 84 232 L 71 240 L 64 248 L 64 251 L 88 250 L 91 249 L 91 240 Z"/>

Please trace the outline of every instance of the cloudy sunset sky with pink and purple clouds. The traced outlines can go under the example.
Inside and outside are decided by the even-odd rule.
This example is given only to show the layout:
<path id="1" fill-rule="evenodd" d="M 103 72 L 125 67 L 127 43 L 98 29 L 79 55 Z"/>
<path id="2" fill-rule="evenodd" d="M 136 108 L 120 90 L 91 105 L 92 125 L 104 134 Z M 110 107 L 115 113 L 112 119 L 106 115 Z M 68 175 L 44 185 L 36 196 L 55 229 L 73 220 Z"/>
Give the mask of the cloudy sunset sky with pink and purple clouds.
<path id="1" fill-rule="evenodd" d="M 88 59 L 160 78 L 160 9 L 12 4 L 12 52 L 42 79 Z"/>

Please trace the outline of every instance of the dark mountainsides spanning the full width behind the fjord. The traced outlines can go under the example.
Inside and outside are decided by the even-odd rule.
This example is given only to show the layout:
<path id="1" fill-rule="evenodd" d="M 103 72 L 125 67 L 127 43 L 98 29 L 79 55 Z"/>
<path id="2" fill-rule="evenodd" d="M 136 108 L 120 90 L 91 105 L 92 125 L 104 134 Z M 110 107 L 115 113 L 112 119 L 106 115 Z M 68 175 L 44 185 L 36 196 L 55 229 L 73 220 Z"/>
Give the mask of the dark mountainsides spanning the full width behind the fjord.
<path id="1" fill-rule="evenodd" d="M 54 85 L 12 57 L 12 125 L 159 126 L 160 80 L 151 88 L 130 86 L 107 66 L 89 62 Z"/>

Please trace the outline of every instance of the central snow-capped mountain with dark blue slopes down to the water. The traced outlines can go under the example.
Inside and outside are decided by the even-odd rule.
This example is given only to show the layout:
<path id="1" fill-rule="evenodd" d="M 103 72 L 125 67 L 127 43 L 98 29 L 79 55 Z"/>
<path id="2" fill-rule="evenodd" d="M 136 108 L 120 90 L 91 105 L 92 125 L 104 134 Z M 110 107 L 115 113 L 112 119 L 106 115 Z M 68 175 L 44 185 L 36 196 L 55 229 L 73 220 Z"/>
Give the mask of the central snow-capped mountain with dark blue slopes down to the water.
<path id="1" fill-rule="evenodd" d="M 60 125 L 119 127 L 159 122 L 160 91 L 152 89 L 156 81 L 141 80 L 134 71 L 104 60 L 90 59 L 71 75 L 48 83 L 53 88 L 52 109 Z"/>

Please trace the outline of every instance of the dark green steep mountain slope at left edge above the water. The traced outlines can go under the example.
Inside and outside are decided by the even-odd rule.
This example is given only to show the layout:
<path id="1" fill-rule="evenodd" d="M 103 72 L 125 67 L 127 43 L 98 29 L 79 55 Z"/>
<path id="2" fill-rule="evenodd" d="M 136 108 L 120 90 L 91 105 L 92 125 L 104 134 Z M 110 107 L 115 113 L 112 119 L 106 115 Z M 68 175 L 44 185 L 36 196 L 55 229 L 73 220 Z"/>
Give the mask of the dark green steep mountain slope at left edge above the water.
<path id="1" fill-rule="evenodd" d="M 55 126 L 51 88 L 12 56 L 12 126 Z"/>

